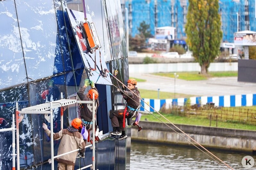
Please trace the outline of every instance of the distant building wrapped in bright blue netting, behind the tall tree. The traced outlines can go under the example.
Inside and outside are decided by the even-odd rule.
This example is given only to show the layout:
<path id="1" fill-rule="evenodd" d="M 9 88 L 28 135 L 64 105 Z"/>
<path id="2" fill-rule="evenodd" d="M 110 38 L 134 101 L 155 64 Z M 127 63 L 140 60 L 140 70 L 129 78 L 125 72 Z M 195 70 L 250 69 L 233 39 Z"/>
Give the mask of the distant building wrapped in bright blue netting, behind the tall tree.
<path id="1" fill-rule="evenodd" d="M 188 0 L 121 0 L 124 22 L 125 8 L 128 9 L 129 33 L 132 37 L 139 34 L 137 28 L 145 21 L 150 25 L 153 36 L 157 27 L 171 26 L 175 27 L 175 39 L 185 40 L 188 5 Z M 255 0 L 219 0 L 219 13 L 222 42 L 234 43 L 234 33 L 237 31 L 256 31 Z"/>

